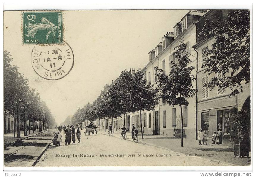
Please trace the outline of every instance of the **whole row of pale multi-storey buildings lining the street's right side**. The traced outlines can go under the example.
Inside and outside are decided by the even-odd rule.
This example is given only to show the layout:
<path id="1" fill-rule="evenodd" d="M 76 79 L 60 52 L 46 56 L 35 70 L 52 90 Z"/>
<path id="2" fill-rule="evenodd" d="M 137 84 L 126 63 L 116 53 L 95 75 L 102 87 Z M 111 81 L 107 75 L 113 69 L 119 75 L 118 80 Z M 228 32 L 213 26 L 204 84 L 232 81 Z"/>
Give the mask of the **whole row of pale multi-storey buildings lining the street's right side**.
<path id="1" fill-rule="evenodd" d="M 157 77 L 155 76 L 154 68 L 157 66 L 168 74 L 171 69 L 171 61 L 178 62 L 173 55 L 175 48 L 183 42 L 186 45 L 185 52 L 191 60 L 188 66 L 195 66 L 191 74 L 197 78 L 193 83 L 193 87 L 198 90 L 194 97 L 187 98 L 189 105 L 182 107 L 184 134 L 187 138 L 195 139 L 198 129 L 202 128 L 207 131 L 208 137 L 211 137 L 213 131 L 217 131 L 218 124 L 221 124 L 224 132 L 223 144 L 232 146 L 234 124 L 230 119 L 230 113 L 236 111 L 236 109 L 239 111 L 249 108 L 250 85 L 244 85 L 244 92 L 234 97 L 229 97 L 229 89 L 217 91 L 216 87 L 209 91 L 208 88 L 202 87 L 211 77 L 214 77 L 214 74 L 208 75 L 204 73 L 205 68 L 201 68 L 202 59 L 205 57 L 204 51 L 211 48 L 214 38 L 202 39 L 201 36 L 198 36 L 206 19 L 225 19 L 227 13 L 228 11 L 225 10 L 212 10 L 207 13 L 206 11 L 189 11 L 181 21 L 174 25 L 174 33 L 167 32 L 163 36 L 162 41 L 148 53 L 149 62 L 142 71 L 147 83 L 157 87 Z M 134 74 L 135 69 L 130 69 L 130 73 Z M 217 77 L 222 77 L 222 75 L 217 74 Z M 115 82 L 112 82 L 112 84 L 115 84 Z M 101 95 L 106 91 L 107 89 L 105 90 L 104 87 Z M 167 104 L 166 100 L 160 99 L 154 111 L 144 110 L 141 117 L 144 134 L 181 136 L 181 111 L 179 105 L 172 107 Z M 126 113 L 124 118 L 125 126 L 128 129 L 130 129 L 132 124 L 140 127 L 139 111 Z M 124 124 L 124 118 L 121 115 L 113 120 L 112 118 L 105 118 L 105 121 L 100 120 L 101 129 L 104 129 L 105 125 L 108 129 L 108 126 L 113 124 L 114 130 L 120 130 Z M 140 131 L 140 129 L 138 130 Z"/>

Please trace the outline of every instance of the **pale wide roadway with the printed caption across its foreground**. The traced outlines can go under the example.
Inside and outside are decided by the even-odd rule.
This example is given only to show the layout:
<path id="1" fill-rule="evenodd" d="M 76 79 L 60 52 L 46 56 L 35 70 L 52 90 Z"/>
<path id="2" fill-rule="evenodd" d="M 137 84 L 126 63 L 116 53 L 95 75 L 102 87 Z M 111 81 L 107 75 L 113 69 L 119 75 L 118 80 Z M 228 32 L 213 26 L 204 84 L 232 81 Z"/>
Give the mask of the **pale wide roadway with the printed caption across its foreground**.
<path id="1" fill-rule="evenodd" d="M 208 160 L 197 160 L 182 154 L 136 144 L 103 134 L 81 134 L 81 143 L 50 145 L 36 166 L 194 166 L 218 165 Z M 140 156 L 141 155 L 141 156 Z M 161 157 L 170 155 L 170 157 Z M 108 157 L 105 157 L 108 156 Z M 109 157 L 110 156 L 110 157 Z M 197 160 L 197 163 L 195 163 Z"/>

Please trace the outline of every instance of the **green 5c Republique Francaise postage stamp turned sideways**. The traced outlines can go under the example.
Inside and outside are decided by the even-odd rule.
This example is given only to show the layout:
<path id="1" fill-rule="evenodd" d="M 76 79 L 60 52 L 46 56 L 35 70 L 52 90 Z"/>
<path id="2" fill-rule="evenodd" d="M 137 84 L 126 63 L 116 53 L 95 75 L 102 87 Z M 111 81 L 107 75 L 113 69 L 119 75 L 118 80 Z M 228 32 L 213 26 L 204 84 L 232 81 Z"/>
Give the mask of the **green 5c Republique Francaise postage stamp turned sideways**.
<path id="1" fill-rule="evenodd" d="M 23 12 L 24 44 L 62 44 L 62 12 Z"/>

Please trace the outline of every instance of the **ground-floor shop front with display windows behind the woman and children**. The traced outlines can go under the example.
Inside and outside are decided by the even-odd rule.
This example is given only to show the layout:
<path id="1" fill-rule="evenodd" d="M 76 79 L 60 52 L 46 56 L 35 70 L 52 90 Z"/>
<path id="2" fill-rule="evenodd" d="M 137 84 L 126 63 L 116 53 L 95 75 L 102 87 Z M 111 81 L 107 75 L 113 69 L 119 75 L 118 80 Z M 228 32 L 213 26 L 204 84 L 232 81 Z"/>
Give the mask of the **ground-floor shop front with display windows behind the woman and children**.
<path id="1" fill-rule="evenodd" d="M 216 132 L 219 136 L 219 144 L 233 147 L 235 126 L 230 115 L 237 111 L 235 98 L 198 103 L 197 129 L 201 128 L 206 131 L 209 141 L 211 141 L 213 133 Z M 223 104 L 227 105 L 227 107 L 224 107 Z M 217 105 L 221 107 L 217 108 Z"/>

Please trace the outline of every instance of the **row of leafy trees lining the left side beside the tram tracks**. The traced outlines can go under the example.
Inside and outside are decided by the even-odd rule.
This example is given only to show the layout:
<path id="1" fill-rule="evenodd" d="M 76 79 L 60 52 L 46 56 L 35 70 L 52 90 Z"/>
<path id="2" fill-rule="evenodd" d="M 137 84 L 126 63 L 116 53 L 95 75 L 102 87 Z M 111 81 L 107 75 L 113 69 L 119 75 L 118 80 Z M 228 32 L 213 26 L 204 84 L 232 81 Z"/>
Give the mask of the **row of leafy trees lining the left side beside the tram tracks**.
<path id="1" fill-rule="evenodd" d="M 13 58 L 10 53 L 3 53 L 4 69 L 4 133 L 7 132 L 6 115 L 14 117 L 14 138 L 20 138 L 21 122 L 23 122 L 24 135 L 27 136 L 27 120 L 30 127 L 35 122 L 39 131 L 56 124 L 50 109 L 40 100 L 39 93 L 29 87 L 29 82 L 18 71 L 18 66 L 12 65 Z M 39 125 L 38 125 L 39 124 Z"/>

